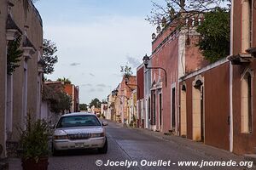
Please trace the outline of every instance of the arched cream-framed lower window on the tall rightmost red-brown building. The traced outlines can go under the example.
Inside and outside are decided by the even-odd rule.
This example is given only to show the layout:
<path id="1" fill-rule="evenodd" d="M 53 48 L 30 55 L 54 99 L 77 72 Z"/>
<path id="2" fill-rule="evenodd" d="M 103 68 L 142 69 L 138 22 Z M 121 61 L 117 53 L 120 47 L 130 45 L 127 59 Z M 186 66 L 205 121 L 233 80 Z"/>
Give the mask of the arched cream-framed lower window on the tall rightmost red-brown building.
<path id="1" fill-rule="evenodd" d="M 247 72 L 241 79 L 241 133 L 253 131 L 252 78 Z"/>

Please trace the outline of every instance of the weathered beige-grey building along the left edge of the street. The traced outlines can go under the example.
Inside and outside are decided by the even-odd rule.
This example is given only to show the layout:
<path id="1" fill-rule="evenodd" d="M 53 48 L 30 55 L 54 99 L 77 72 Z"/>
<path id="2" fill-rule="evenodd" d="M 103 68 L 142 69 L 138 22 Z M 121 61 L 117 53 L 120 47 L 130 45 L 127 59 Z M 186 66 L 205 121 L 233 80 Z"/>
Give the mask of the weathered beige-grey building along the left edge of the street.
<path id="1" fill-rule="evenodd" d="M 41 115 L 43 23 L 30 0 L 1 1 L 0 11 L 0 156 L 7 156 L 7 145 L 20 138 L 17 129 L 25 127 L 26 115 Z M 8 70 L 12 50 L 22 50 L 15 71 Z"/>

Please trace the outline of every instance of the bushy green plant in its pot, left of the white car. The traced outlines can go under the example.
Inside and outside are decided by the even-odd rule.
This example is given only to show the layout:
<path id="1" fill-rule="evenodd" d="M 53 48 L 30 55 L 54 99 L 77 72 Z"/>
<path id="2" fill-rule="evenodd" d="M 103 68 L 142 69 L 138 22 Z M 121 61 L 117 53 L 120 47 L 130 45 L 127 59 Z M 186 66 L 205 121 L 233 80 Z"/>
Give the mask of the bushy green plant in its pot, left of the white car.
<path id="1" fill-rule="evenodd" d="M 27 116 L 26 129 L 20 129 L 21 161 L 24 170 L 47 170 L 49 127 L 44 120 Z"/>

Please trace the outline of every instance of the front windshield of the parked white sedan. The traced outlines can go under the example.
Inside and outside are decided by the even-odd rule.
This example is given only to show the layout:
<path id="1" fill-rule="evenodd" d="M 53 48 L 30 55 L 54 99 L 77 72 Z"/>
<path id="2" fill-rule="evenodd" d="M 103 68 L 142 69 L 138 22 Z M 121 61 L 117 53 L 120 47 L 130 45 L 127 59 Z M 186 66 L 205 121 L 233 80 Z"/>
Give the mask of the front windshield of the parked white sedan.
<path id="1" fill-rule="evenodd" d="M 86 127 L 86 126 L 101 126 L 101 123 L 96 116 L 63 116 L 57 124 L 60 127 Z"/>

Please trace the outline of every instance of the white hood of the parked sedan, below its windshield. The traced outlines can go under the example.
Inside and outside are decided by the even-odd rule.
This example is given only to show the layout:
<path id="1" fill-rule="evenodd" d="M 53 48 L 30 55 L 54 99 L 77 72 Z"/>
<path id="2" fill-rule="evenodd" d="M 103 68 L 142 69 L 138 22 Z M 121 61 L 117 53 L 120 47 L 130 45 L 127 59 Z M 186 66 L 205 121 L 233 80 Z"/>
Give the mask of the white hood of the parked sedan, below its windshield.
<path id="1" fill-rule="evenodd" d="M 75 133 L 102 133 L 103 127 L 61 127 L 55 129 L 55 135 L 66 135 Z"/>

